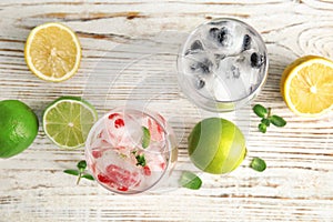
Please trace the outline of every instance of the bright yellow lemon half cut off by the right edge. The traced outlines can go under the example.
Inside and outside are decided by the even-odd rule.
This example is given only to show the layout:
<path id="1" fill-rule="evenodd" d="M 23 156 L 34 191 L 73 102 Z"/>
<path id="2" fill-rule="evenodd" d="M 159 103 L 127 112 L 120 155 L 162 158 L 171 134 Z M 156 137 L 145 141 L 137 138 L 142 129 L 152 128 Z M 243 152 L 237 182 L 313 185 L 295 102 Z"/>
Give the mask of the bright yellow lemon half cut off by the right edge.
<path id="1" fill-rule="evenodd" d="M 299 58 L 282 74 L 281 94 L 297 115 L 329 112 L 333 107 L 333 62 L 315 56 Z"/>

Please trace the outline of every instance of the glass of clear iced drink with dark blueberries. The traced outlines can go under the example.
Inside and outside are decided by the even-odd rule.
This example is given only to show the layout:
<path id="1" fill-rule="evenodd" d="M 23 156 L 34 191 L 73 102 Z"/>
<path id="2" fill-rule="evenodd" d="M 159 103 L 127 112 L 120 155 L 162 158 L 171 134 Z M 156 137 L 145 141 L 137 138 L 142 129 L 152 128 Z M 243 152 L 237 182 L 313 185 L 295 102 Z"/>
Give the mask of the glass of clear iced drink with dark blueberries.
<path id="1" fill-rule="evenodd" d="M 196 105 L 214 112 L 244 107 L 268 78 L 269 59 L 261 36 L 231 18 L 199 26 L 178 57 L 179 84 Z"/>

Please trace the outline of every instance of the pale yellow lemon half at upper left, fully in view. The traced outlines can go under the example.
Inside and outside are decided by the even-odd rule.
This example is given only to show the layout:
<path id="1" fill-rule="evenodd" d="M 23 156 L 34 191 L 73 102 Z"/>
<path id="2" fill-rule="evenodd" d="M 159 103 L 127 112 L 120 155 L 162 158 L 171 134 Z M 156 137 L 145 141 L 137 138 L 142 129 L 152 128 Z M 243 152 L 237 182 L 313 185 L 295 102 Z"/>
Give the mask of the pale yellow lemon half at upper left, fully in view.
<path id="1" fill-rule="evenodd" d="M 75 33 L 61 23 L 44 23 L 29 34 L 24 58 L 40 79 L 61 82 L 77 73 L 81 47 Z"/>

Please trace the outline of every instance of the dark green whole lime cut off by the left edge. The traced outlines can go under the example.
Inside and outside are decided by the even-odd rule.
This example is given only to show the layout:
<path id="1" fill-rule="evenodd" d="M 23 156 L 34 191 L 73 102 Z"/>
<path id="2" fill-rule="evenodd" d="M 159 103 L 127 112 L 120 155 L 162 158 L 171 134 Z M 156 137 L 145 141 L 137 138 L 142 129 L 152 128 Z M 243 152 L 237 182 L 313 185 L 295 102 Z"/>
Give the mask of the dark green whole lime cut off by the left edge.
<path id="1" fill-rule="evenodd" d="M 13 157 L 26 150 L 38 133 L 38 118 L 23 102 L 0 101 L 0 158 Z"/>

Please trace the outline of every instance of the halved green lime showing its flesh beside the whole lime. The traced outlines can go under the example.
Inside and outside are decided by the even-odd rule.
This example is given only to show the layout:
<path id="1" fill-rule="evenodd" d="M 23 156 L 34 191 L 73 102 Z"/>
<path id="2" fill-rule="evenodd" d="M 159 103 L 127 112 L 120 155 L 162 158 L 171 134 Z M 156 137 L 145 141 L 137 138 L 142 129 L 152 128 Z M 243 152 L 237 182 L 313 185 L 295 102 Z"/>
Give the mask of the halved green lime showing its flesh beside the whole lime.
<path id="1" fill-rule="evenodd" d="M 43 113 L 43 130 L 58 147 L 75 149 L 84 144 L 97 121 L 95 109 L 81 98 L 61 97 Z"/>

